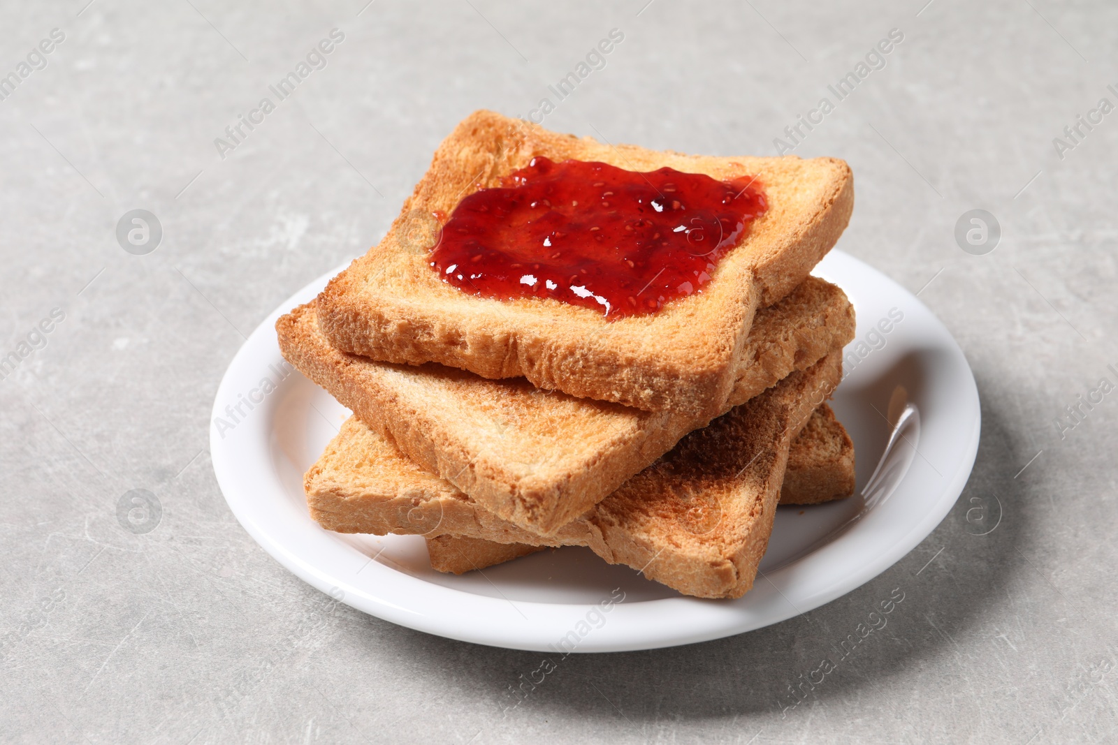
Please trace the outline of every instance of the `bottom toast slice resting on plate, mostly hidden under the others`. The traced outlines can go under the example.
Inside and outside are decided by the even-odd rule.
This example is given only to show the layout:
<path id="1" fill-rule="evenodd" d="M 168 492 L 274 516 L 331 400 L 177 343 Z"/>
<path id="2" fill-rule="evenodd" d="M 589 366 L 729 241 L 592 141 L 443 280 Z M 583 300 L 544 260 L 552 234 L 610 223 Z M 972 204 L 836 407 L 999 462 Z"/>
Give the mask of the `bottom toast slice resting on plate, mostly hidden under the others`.
<path id="1" fill-rule="evenodd" d="M 854 443 L 827 404 L 819 405 L 792 442 L 780 486 L 781 505 L 814 505 L 854 494 Z M 463 574 L 527 556 L 547 546 L 496 543 L 443 534 L 427 538 L 432 569 Z"/>

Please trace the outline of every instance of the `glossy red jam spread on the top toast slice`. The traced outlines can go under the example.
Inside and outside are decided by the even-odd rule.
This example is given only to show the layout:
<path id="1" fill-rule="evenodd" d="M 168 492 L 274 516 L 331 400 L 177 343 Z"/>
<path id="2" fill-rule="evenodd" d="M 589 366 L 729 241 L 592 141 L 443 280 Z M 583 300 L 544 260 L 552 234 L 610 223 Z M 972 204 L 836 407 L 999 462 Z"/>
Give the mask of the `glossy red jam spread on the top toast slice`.
<path id="1" fill-rule="evenodd" d="M 701 292 L 765 209 L 752 176 L 537 156 L 458 203 L 430 266 L 484 297 L 552 297 L 608 318 L 653 313 Z"/>

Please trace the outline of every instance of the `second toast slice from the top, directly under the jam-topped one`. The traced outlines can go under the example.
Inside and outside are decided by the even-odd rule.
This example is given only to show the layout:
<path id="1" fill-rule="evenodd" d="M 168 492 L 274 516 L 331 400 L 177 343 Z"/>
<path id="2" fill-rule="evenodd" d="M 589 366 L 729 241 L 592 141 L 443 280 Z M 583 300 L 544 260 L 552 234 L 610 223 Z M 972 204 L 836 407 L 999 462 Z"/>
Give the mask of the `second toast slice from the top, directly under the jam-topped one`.
<path id="1" fill-rule="evenodd" d="M 313 304 L 280 318 L 276 329 L 293 365 L 410 460 L 536 533 L 581 515 L 707 423 L 541 391 L 523 379 L 486 380 L 436 364 L 345 354 L 320 332 Z M 757 314 L 724 409 L 841 348 L 853 333 L 845 294 L 809 277 Z"/>

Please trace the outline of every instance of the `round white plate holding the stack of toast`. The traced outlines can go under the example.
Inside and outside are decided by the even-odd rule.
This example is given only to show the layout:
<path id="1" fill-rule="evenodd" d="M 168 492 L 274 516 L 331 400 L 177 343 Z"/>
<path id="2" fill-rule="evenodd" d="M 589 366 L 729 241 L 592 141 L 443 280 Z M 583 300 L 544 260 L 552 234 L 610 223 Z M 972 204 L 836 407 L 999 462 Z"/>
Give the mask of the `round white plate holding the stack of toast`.
<path id="1" fill-rule="evenodd" d="M 903 287 L 832 251 L 815 274 L 846 290 L 858 312 L 833 402 L 854 440 L 858 494 L 781 507 L 761 574 L 743 598 L 685 598 L 586 548 L 439 574 L 421 537 L 335 534 L 307 516 L 302 474 L 349 411 L 285 367 L 274 324 L 333 274 L 277 308 L 234 357 L 214 402 L 214 470 L 237 519 L 281 564 L 358 610 L 428 633 L 598 652 L 705 641 L 783 621 L 870 581 L 919 544 L 955 504 L 978 449 L 978 392 L 955 340 Z M 883 322 L 888 333 L 877 329 L 890 312 L 902 318 Z M 863 497 L 890 440 L 887 418 L 897 421 L 901 411 L 901 436 Z"/>

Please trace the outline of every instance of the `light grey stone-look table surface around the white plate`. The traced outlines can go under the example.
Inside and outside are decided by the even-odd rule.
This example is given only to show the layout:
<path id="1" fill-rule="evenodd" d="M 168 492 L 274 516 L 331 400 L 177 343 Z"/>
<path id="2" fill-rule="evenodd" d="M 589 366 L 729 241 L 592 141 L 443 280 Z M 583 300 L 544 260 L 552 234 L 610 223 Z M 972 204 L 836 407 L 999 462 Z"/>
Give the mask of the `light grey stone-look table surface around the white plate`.
<path id="1" fill-rule="evenodd" d="M 0 19 L 0 355 L 18 362 L 0 380 L 0 741 L 1118 741 L 1114 4 L 70 0 Z M 229 140 L 332 29 L 297 92 Z M 556 101 L 612 29 L 605 66 Z M 839 101 L 827 86 L 868 55 Z M 953 512 L 874 581 L 721 641 L 574 656 L 502 711 L 539 655 L 396 627 L 288 574 L 226 506 L 209 411 L 244 335 L 383 235 L 458 120 L 546 97 L 546 126 L 610 142 L 846 159 L 839 247 L 921 290 L 974 369 L 983 433 Z M 145 255 L 117 240 L 133 209 L 162 227 Z M 956 240 L 973 209 L 996 247 Z M 131 489 L 159 500 L 154 529 L 122 527 Z M 976 535 L 968 510 L 994 505 Z M 894 588 L 888 627 L 785 709 Z"/>

